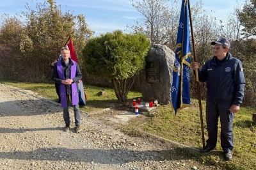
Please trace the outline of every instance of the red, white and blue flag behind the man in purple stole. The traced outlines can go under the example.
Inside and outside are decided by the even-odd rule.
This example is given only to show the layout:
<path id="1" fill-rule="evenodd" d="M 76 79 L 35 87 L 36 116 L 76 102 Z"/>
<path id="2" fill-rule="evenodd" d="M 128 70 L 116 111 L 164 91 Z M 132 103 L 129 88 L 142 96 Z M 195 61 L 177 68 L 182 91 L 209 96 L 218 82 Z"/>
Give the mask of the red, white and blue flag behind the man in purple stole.
<path id="1" fill-rule="evenodd" d="M 73 42 L 72 42 L 72 38 L 70 38 L 69 40 L 69 43 L 67 44 L 68 46 L 68 49 L 70 50 L 70 58 L 73 59 L 74 61 L 78 61 L 77 60 L 77 56 L 76 56 L 76 51 L 74 49 L 74 45 L 73 45 Z M 83 86 L 83 81 L 80 80 L 78 82 L 78 96 L 79 96 L 79 100 L 78 100 L 78 104 L 79 105 L 85 105 L 86 104 L 86 95 L 85 95 L 85 92 L 84 92 L 84 86 Z"/>

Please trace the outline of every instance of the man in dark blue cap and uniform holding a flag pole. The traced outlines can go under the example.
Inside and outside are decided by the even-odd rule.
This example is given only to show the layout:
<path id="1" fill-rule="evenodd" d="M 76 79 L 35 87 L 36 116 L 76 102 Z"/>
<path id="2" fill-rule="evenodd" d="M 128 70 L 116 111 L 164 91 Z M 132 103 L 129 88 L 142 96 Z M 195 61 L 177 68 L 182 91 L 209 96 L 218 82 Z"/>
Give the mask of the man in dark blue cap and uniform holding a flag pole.
<path id="1" fill-rule="evenodd" d="M 208 139 L 201 151 L 214 150 L 218 136 L 218 118 L 221 123 L 221 148 L 224 157 L 232 160 L 233 119 L 239 112 L 244 97 L 244 73 L 241 61 L 228 52 L 230 42 L 220 38 L 214 45 L 213 58 L 209 59 L 202 70 L 198 70 L 199 81 L 207 81 L 206 124 Z M 198 63 L 192 63 L 193 70 Z"/>

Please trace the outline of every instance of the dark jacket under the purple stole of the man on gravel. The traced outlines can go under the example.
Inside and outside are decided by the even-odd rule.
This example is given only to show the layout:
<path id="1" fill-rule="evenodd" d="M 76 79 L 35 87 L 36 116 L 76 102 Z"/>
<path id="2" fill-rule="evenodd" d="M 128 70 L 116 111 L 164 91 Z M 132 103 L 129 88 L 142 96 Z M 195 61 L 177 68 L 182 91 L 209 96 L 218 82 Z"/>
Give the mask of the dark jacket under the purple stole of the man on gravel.
<path id="1" fill-rule="evenodd" d="M 71 79 L 71 66 L 74 65 L 73 61 L 69 58 L 69 64 L 66 66 L 65 62 L 61 59 L 61 65 L 64 73 L 65 80 Z M 80 70 L 79 65 L 76 63 L 76 77 L 73 78 L 72 83 L 76 83 L 77 89 L 78 89 L 78 81 L 82 79 L 82 73 Z M 58 74 L 57 65 L 55 63 L 53 72 L 52 72 L 52 80 L 58 84 L 61 84 L 62 79 L 60 79 L 60 76 Z M 60 88 L 60 87 L 59 87 Z M 67 95 L 70 95 L 72 92 L 71 85 L 65 85 Z"/>

